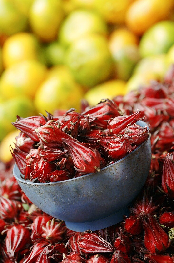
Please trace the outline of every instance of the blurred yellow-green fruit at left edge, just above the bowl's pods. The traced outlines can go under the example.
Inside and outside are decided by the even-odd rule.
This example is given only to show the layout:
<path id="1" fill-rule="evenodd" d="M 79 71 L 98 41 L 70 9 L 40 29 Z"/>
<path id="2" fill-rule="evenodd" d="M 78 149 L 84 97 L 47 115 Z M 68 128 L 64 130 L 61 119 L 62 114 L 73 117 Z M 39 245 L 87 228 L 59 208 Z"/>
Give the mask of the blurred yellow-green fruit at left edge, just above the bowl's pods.
<path id="1" fill-rule="evenodd" d="M 24 118 L 35 115 L 35 108 L 29 98 L 20 96 L 0 104 L 0 141 L 15 129 L 11 123 L 15 122 L 16 115 Z"/>

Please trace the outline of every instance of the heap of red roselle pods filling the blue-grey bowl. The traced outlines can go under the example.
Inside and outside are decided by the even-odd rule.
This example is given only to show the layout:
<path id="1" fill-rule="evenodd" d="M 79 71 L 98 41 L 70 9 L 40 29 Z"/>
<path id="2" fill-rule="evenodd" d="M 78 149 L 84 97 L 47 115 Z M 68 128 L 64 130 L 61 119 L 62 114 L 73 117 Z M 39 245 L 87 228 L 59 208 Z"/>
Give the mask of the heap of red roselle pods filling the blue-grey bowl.
<path id="1" fill-rule="evenodd" d="M 18 117 L 12 155 L 25 180 L 35 182 L 99 172 L 148 139 L 148 128 L 136 124 L 144 117 L 141 111 L 123 115 L 109 99 L 81 114 L 70 109 L 62 116 Z"/>

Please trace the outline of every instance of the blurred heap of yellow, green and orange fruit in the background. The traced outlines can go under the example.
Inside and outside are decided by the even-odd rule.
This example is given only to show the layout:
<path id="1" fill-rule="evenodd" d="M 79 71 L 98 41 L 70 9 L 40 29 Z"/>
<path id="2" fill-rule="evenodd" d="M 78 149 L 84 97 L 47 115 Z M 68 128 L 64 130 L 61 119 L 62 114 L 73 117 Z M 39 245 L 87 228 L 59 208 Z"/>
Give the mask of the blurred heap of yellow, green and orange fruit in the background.
<path id="1" fill-rule="evenodd" d="M 0 160 L 11 122 L 124 95 L 174 63 L 174 0 L 0 0 Z"/>

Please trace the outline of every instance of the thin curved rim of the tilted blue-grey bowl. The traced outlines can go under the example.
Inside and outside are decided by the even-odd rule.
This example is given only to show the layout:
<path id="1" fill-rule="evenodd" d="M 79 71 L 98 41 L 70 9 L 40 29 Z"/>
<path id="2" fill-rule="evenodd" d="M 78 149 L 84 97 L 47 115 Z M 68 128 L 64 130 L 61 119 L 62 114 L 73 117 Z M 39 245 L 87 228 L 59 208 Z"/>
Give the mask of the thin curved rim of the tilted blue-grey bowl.
<path id="1" fill-rule="evenodd" d="M 148 127 L 148 125 L 143 122 L 142 120 L 139 120 L 138 122 L 141 122 L 143 124 L 142 127 Z M 140 125 L 139 125 L 140 126 Z M 148 130 L 149 130 L 149 127 L 148 127 Z M 123 161 L 124 159 L 128 158 L 130 155 L 132 155 L 133 153 L 135 153 L 143 144 L 145 144 L 148 140 L 150 139 L 150 135 L 148 137 L 148 139 L 146 141 L 144 141 L 142 144 L 138 145 L 138 147 L 136 149 L 134 149 L 133 151 L 131 151 L 131 153 L 127 154 L 126 156 L 124 156 L 123 158 L 121 158 L 120 160 L 114 162 L 113 164 L 110 164 L 108 166 L 105 166 L 104 168 L 100 169 L 100 171 L 103 171 L 105 170 L 106 168 L 109 168 L 115 164 L 118 164 L 120 163 L 121 161 Z M 65 182 L 69 182 L 69 181 L 74 181 L 74 180 L 80 180 L 80 178 L 84 178 L 84 177 L 87 177 L 89 175 L 95 175 L 99 172 L 96 172 L 96 173 L 89 173 L 89 174 L 85 174 L 85 175 L 82 175 L 82 176 L 79 176 L 79 177 L 76 177 L 76 178 L 71 178 L 71 179 L 68 179 L 68 180 L 63 180 L 63 181 L 58 181 L 58 182 L 50 182 L 50 183 L 35 183 L 35 182 L 31 182 L 30 180 L 25 180 L 24 178 L 19 178 L 18 176 L 15 175 L 15 169 L 18 169 L 18 166 L 15 164 L 14 165 L 14 168 L 13 168 L 13 175 L 15 177 L 16 180 L 22 182 L 22 183 L 25 183 L 25 184 L 33 184 L 33 185 L 51 185 L 51 184 L 60 184 L 60 183 L 65 183 Z M 21 173 L 20 173 L 21 174 Z"/>

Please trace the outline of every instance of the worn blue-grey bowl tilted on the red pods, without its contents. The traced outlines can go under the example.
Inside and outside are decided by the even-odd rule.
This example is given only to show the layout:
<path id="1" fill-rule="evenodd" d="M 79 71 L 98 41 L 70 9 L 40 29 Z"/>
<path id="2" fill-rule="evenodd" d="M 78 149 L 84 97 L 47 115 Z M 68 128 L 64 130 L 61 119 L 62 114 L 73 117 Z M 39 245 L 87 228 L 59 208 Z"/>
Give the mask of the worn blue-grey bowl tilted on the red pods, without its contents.
<path id="1" fill-rule="evenodd" d="M 145 127 L 146 123 L 138 121 Z M 33 183 L 13 174 L 26 196 L 74 231 L 98 230 L 120 222 L 142 189 L 150 169 L 150 136 L 130 154 L 100 172 L 54 183 Z"/>

